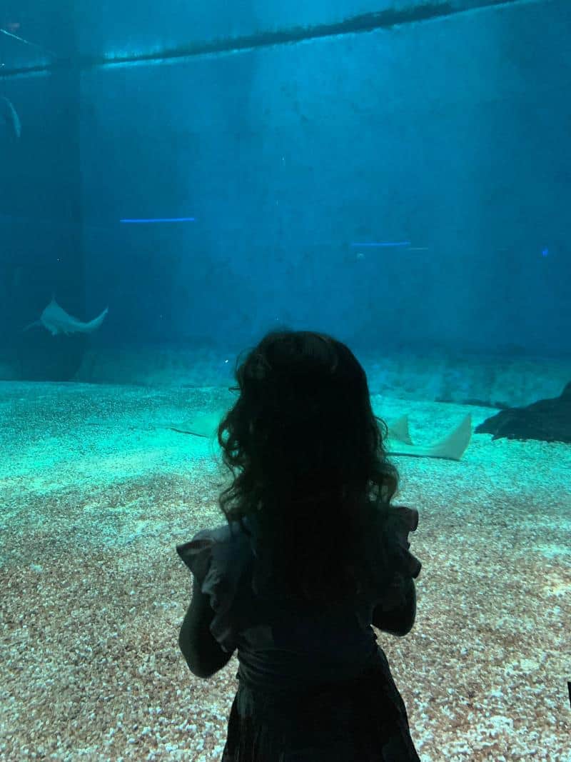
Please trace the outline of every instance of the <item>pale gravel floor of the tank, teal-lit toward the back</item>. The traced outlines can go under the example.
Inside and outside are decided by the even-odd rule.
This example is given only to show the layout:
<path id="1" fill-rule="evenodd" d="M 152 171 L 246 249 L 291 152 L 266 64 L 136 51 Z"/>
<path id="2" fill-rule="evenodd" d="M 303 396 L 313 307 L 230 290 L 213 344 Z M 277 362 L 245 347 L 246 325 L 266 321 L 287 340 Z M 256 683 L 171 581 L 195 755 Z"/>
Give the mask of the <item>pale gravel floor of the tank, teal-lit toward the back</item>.
<path id="1" fill-rule="evenodd" d="M 493 413 L 372 399 L 418 443 Z M 228 477 L 208 440 L 162 425 L 225 402 L 0 385 L 0 759 L 219 760 L 238 661 L 188 671 L 175 545 L 224 523 Z M 571 447 L 474 434 L 459 463 L 394 462 L 423 571 L 413 631 L 378 635 L 421 759 L 569 762 Z"/>

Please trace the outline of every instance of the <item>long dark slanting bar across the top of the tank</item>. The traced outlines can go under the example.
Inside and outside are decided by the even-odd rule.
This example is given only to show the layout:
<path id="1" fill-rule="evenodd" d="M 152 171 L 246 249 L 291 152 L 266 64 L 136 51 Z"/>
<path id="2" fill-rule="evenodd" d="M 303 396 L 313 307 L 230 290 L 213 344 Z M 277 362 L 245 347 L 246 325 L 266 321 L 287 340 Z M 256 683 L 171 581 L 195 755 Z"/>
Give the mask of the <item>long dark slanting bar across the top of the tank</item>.
<path id="1" fill-rule="evenodd" d="M 381 29 L 416 24 L 422 21 L 445 18 L 455 14 L 475 11 L 492 6 L 524 5 L 537 0 L 445 0 L 445 2 L 427 2 L 410 8 L 388 8 L 385 11 L 361 14 L 343 21 L 331 24 L 316 24 L 309 27 L 291 27 L 284 30 L 258 32 L 243 37 L 231 37 L 209 42 L 190 43 L 189 45 L 165 49 L 161 53 L 137 53 L 131 56 L 76 56 L 62 58 L 47 64 L 23 66 L 17 69 L 2 69 L 1 78 L 37 72 L 57 71 L 58 69 L 94 69 L 98 66 L 120 66 L 121 64 L 145 61 L 164 61 L 167 59 L 191 58 L 215 53 L 234 53 L 239 50 L 255 50 L 257 48 L 276 45 L 289 45 L 317 40 L 322 37 L 339 37 L 344 34 L 359 34 Z"/>

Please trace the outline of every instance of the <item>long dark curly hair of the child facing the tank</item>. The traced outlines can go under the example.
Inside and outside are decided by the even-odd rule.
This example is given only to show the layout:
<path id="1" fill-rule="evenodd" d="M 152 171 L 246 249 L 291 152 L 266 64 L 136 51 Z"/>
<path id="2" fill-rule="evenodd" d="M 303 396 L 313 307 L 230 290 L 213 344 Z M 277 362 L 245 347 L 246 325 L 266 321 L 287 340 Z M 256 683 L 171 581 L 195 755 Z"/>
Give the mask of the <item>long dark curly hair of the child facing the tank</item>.
<path id="1" fill-rule="evenodd" d="M 240 395 L 218 440 L 233 482 L 228 523 L 255 517 L 273 575 L 305 600 L 359 590 L 368 518 L 386 510 L 398 472 L 365 370 L 345 344 L 311 331 L 270 331 L 237 360 Z"/>

